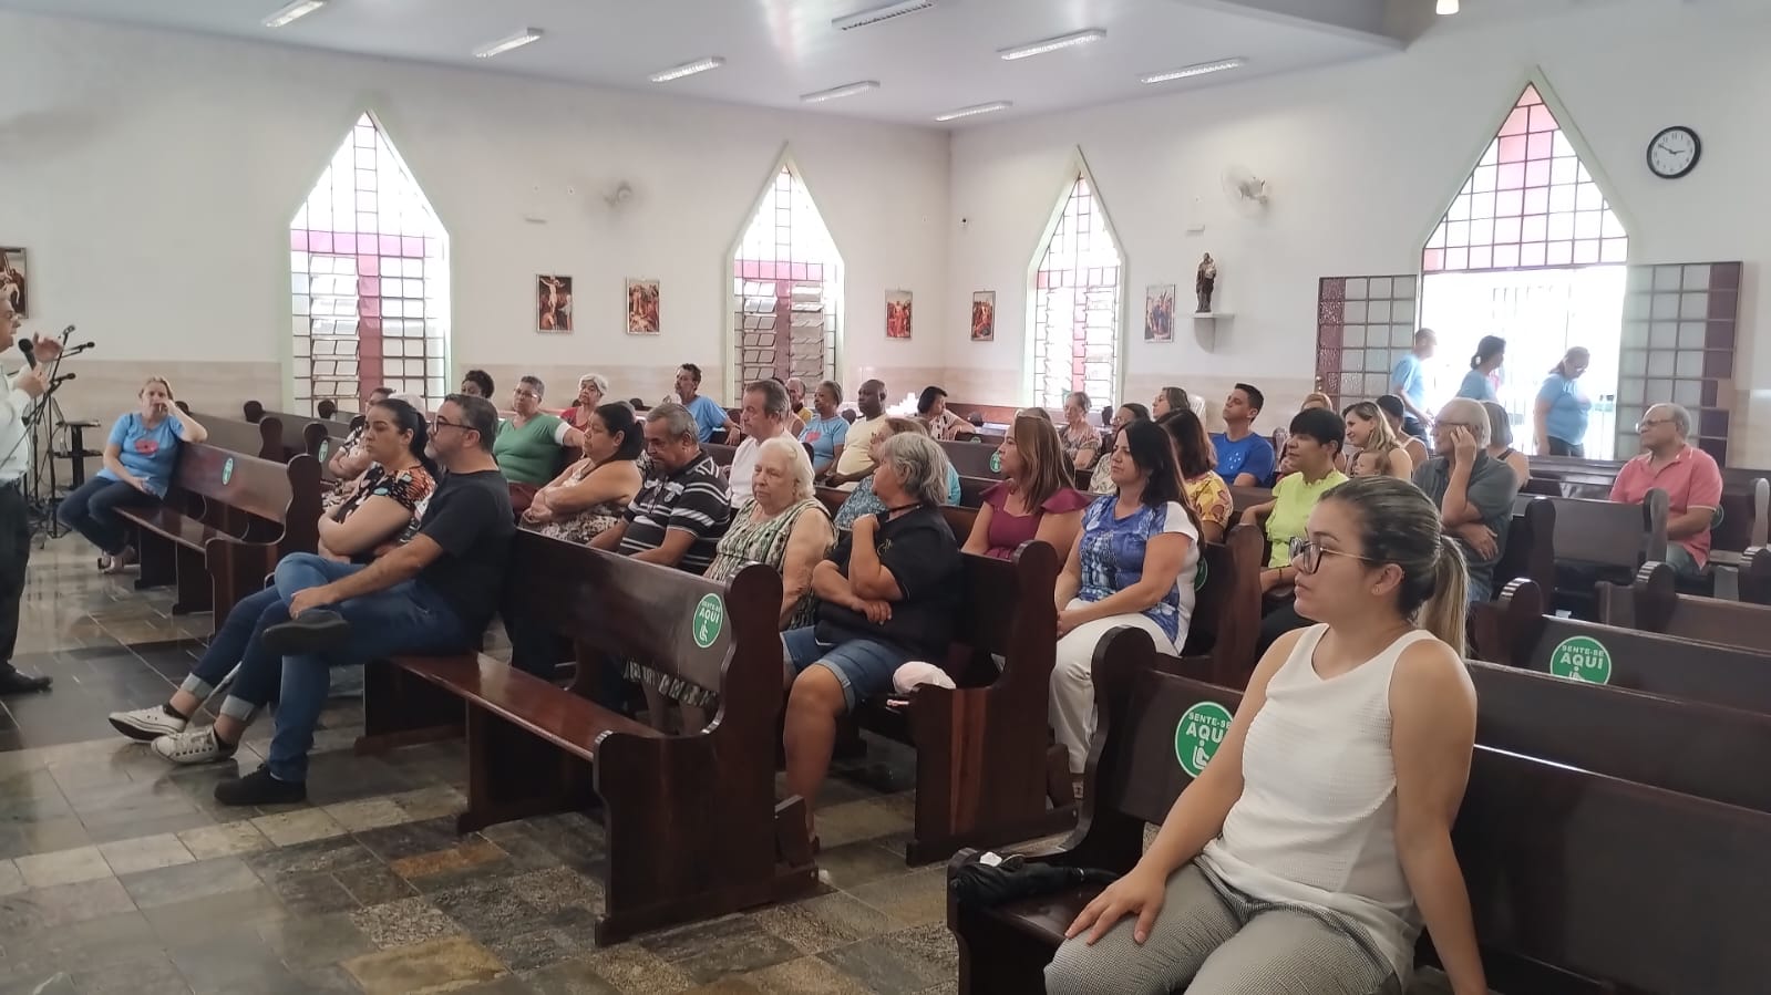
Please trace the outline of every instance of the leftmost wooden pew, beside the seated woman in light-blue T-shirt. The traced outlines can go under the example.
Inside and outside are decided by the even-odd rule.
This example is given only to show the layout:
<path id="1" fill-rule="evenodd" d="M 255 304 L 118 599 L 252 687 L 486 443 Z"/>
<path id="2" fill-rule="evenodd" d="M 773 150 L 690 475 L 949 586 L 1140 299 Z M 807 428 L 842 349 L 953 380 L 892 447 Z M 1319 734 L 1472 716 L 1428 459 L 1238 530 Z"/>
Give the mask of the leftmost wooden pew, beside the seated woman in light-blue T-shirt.
<path id="1" fill-rule="evenodd" d="M 184 443 L 166 499 L 117 515 L 136 533 L 135 586 L 175 584 L 172 613 L 213 609 L 220 629 L 278 559 L 319 547 L 321 466 L 306 455 L 283 464 Z"/>

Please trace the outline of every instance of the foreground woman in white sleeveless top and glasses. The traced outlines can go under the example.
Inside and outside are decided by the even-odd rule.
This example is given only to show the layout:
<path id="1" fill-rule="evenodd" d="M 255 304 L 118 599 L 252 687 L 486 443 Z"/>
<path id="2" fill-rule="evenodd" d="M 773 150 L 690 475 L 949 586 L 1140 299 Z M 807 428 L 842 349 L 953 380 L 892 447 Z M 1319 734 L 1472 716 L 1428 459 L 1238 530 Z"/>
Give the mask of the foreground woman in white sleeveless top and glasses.
<path id="1" fill-rule="evenodd" d="M 1047 991 L 1399 993 L 1422 924 L 1486 995 L 1450 845 L 1475 745 L 1465 568 L 1404 480 L 1330 490 L 1298 611 L 1144 859 L 1071 922 Z"/>

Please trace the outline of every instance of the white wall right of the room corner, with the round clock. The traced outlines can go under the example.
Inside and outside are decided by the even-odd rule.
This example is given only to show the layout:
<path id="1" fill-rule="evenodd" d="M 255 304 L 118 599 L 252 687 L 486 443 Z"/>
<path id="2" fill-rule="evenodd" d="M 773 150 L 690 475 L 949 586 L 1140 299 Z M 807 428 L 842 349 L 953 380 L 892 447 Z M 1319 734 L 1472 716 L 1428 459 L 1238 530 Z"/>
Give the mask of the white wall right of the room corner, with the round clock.
<path id="1" fill-rule="evenodd" d="M 1752 402 L 1759 430 L 1736 428 L 1730 462 L 1771 466 L 1771 349 L 1752 343 L 1753 329 L 1771 328 L 1760 292 L 1771 258 L 1767 51 L 1764 14 L 1628 0 L 1502 27 L 1452 23 L 1373 62 L 967 129 L 953 143 L 947 310 L 997 290 L 997 340 L 951 336 L 949 388 L 1020 386 L 1027 264 L 1080 147 L 1130 262 L 1126 393 L 1148 400 L 1176 382 L 1218 398 L 1254 379 L 1270 409 L 1295 411 L 1314 375 L 1318 278 L 1419 271 L 1426 235 L 1541 67 L 1573 119 L 1564 127 L 1585 136 L 1610 179 L 1631 262 L 1746 260 L 1736 423 Z M 1668 124 L 1697 127 L 1705 145 L 1677 182 L 1643 165 Z M 1218 177 L 1231 163 L 1275 184 L 1264 220 L 1227 205 Z M 1187 234 L 1194 225 L 1206 232 Z M 1190 301 L 1203 251 L 1220 262 L 1217 306 L 1234 320 L 1211 349 L 1187 317 L 1176 343 L 1146 345 L 1144 287 L 1178 283 Z"/>

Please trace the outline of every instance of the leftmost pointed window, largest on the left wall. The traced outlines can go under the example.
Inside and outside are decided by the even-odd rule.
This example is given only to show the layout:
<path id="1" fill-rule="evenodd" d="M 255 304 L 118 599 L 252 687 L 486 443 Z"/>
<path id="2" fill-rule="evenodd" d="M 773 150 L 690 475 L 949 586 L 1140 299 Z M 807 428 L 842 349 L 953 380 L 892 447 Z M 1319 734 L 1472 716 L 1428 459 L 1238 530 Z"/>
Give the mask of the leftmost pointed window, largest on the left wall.
<path id="1" fill-rule="evenodd" d="M 448 381 L 448 234 L 375 119 L 363 115 L 289 225 L 294 400 L 356 411 L 377 386 Z"/>

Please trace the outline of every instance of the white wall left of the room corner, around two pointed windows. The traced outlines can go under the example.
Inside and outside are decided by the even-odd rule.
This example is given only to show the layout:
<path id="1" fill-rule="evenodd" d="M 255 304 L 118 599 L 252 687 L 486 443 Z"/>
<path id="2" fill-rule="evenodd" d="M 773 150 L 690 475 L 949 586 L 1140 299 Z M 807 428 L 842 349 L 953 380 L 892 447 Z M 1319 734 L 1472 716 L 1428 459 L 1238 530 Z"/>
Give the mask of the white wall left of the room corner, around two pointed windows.
<path id="1" fill-rule="evenodd" d="M 101 345 L 69 391 L 94 416 L 147 366 L 204 405 L 280 391 L 289 221 L 365 108 L 448 228 L 457 370 L 538 372 L 549 393 L 600 370 L 655 398 L 696 361 L 724 393 L 726 253 L 783 147 L 847 264 L 848 377 L 933 377 L 963 322 L 937 306 L 933 129 L 18 14 L 0 14 L 0 244 L 30 250 L 28 328 L 78 322 Z M 615 214 L 600 195 L 620 181 L 636 200 Z M 576 276 L 574 335 L 533 331 L 535 273 Z M 662 280 L 664 335 L 623 335 L 627 276 Z M 909 343 L 884 336 L 887 287 L 917 294 Z"/>

